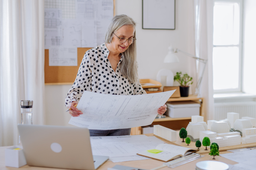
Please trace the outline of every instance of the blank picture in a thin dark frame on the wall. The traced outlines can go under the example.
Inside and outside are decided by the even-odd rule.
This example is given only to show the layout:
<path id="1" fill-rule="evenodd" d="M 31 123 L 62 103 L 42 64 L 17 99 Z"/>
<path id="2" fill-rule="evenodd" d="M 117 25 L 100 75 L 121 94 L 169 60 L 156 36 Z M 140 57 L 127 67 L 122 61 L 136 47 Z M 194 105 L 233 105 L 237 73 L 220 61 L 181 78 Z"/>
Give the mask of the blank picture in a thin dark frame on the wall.
<path id="1" fill-rule="evenodd" d="M 175 0 L 142 0 L 143 29 L 175 29 Z"/>

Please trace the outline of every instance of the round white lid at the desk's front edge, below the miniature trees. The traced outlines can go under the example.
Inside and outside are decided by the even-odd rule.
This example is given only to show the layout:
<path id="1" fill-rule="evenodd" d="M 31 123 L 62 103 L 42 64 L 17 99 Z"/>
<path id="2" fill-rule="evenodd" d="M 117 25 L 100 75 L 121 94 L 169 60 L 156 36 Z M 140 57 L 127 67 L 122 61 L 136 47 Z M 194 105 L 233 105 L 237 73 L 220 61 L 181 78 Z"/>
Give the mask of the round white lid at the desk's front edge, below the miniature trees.
<path id="1" fill-rule="evenodd" d="M 219 161 L 200 161 L 195 164 L 196 170 L 228 170 L 229 166 Z"/>

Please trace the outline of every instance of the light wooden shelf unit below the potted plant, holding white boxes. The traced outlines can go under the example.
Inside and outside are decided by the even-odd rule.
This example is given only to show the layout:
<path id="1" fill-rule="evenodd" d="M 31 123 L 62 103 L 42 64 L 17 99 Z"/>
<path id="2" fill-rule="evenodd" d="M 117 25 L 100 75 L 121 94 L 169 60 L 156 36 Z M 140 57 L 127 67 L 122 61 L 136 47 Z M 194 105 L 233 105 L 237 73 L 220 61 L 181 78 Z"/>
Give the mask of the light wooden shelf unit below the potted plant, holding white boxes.
<path id="1" fill-rule="evenodd" d="M 204 98 L 198 98 L 195 95 L 189 95 L 188 97 L 178 97 L 178 98 L 169 98 L 167 102 L 175 102 L 175 101 L 194 101 L 201 104 L 200 107 L 200 116 L 204 116 L 203 111 L 203 101 Z M 154 119 L 151 125 L 161 125 L 172 130 L 180 130 L 182 127 L 187 127 L 187 125 L 191 122 L 191 117 L 184 118 L 171 118 L 166 116 L 166 118 Z M 131 135 L 140 135 L 141 127 L 133 127 L 131 128 Z"/>

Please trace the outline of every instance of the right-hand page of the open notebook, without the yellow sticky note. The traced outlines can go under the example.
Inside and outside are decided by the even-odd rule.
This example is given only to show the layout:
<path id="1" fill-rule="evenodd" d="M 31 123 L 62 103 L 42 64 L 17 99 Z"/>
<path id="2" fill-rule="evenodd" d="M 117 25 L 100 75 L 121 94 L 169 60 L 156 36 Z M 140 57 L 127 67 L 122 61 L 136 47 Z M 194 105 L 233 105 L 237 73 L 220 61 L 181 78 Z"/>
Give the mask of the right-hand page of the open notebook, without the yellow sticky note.
<path id="1" fill-rule="evenodd" d="M 188 155 L 189 153 L 186 153 L 188 150 L 195 150 L 188 147 L 182 147 L 182 146 L 176 146 L 173 144 L 159 144 L 157 145 L 156 149 L 158 150 L 164 150 L 166 152 L 175 153 L 176 155 Z"/>

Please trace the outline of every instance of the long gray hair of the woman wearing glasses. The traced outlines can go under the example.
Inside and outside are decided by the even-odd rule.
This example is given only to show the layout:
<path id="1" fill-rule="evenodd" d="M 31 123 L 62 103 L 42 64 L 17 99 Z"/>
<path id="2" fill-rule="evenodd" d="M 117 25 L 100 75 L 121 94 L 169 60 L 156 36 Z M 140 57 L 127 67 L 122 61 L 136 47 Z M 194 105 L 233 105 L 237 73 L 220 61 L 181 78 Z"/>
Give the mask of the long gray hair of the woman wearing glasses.
<path id="1" fill-rule="evenodd" d="M 114 16 L 106 31 L 105 42 L 111 43 L 113 32 L 116 32 L 119 28 L 125 25 L 133 26 L 135 30 L 136 23 L 131 17 L 123 14 Z M 136 37 L 136 30 L 134 31 L 134 37 Z M 134 41 L 128 49 L 123 52 L 124 57 L 119 65 L 121 74 L 131 83 L 137 83 L 139 81 L 136 51 L 136 41 Z"/>

